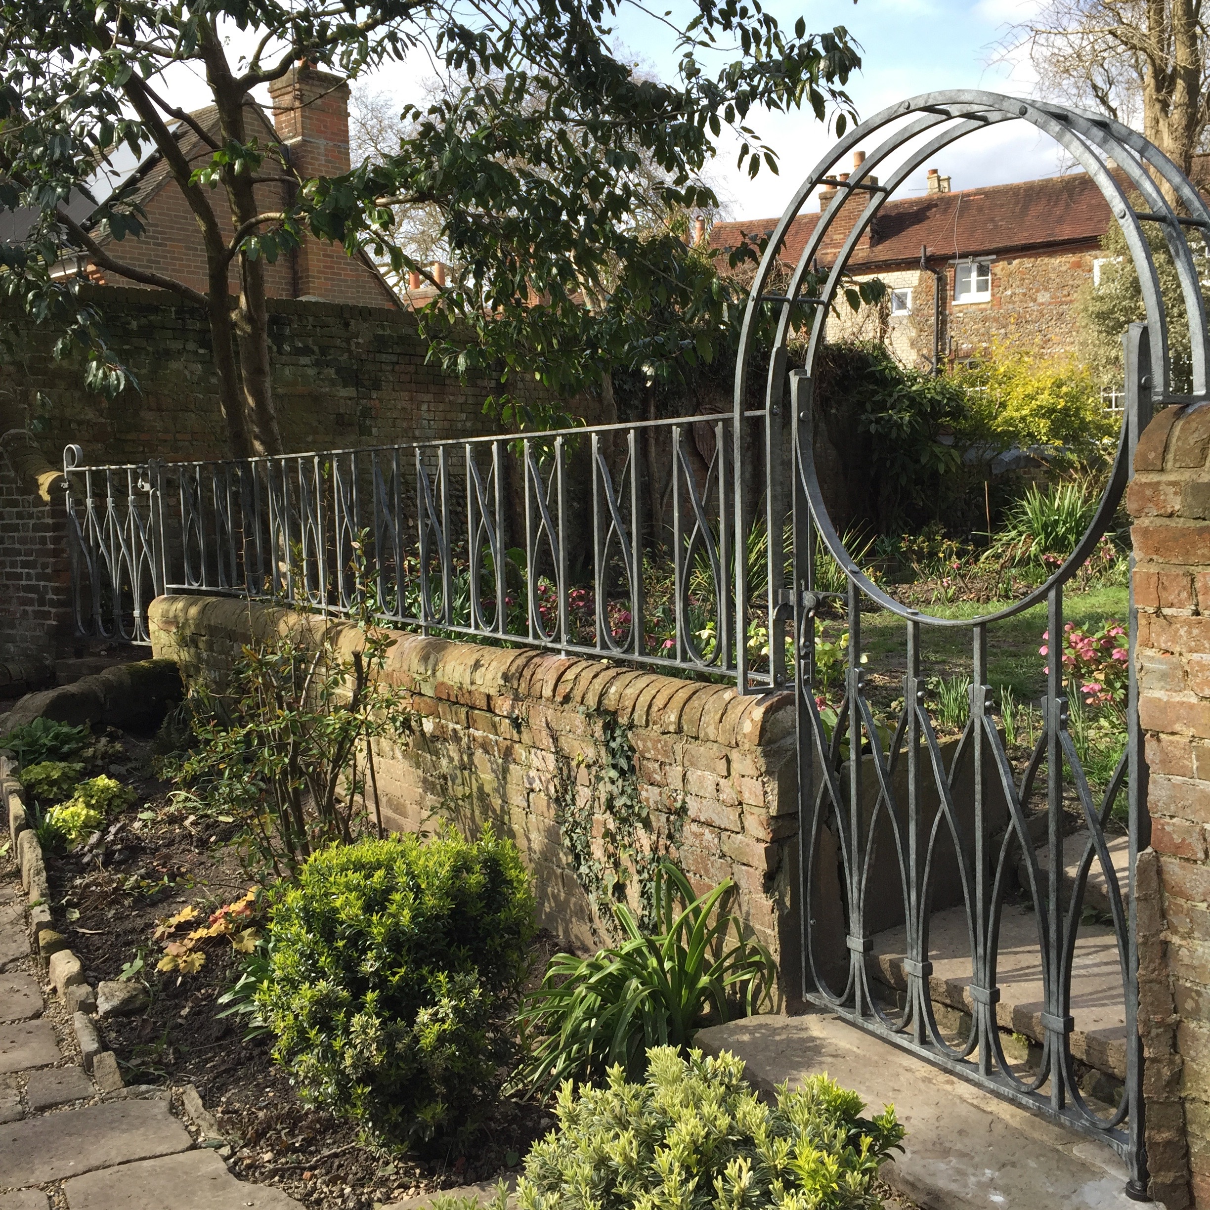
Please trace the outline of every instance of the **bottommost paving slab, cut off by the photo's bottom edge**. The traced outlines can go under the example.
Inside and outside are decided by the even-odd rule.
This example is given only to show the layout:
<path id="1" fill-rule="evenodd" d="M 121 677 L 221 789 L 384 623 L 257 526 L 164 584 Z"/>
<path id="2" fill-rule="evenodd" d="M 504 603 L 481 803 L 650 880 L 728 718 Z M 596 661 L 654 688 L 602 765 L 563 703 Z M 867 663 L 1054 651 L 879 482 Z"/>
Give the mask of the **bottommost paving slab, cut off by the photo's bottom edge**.
<path id="1" fill-rule="evenodd" d="M 209 1148 L 106 1168 L 63 1186 L 69 1210 L 288 1210 L 301 1203 L 270 1185 L 244 1185 Z"/>

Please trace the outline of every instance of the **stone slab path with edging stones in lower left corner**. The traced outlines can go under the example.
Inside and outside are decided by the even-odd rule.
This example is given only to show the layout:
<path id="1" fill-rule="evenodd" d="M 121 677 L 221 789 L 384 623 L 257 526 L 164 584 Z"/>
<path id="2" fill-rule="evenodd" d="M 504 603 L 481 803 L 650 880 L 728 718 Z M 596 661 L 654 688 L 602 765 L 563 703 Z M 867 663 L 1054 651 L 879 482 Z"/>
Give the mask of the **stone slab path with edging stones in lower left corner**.
<path id="1" fill-rule="evenodd" d="M 215 1140 L 198 1146 L 196 1125 L 173 1114 L 168 1089 L 90 1077 L 71 1014 L 44 991 L 23 899 L 18 885 L 0 883 L 0 1210 L 299 1206 L 237 1181 Z M 191 1100 L 192 1089 L 186 1111 Z"/>

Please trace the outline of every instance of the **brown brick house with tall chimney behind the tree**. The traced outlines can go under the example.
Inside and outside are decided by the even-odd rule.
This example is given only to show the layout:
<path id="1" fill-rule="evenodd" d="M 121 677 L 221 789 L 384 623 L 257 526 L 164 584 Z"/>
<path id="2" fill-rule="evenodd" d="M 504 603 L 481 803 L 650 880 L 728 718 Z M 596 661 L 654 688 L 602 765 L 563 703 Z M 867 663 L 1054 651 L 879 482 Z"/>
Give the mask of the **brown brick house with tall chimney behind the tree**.
<path id="1" fill-rule="evenodd" d="M 294 67 L 270 87 L 272 117 L 259 105 L 250 105 L 249 128 L 261 143 L 278 143 L 304 178 L 339 175 L 348 172 L 348 82 L 313 68 Z M 218 129 L 213 105 L 190 115 L 203 129 Z M 211 149 L 185 122 L 177 126 L 185 156 L 198 166 L 211 157 Z M 206 254 L 201 232 L 180 190 L 159 151 L 145 159 L 127 179 L 137 184 L 136 198 L 146 212 L 146 230 L 139 238 L 113 244 L 113 254 L 125 264 L 155 270 L 197 290 L 206 290 Z M 257 186 L 263 211 L 281 209 L 288 201 L 288 185 L 266 183 Z M 226 211 L 215 206 L 223 218 Z M 230 221 L 227 219 L 227 221 Z M 75 265 L 71 271 L 75 271 Z M 134 286 L 86 263 L 88 276 L 110 286 Z M 236 269 L 232 266 L 232 289 Z M 398 307 L 391 287 L 368 255 L 348 257 L 339 244 L 307 237 L 288 255 L 266 266 L 266 289 L 271 298 L 322 299 L 358 306 Z"/>

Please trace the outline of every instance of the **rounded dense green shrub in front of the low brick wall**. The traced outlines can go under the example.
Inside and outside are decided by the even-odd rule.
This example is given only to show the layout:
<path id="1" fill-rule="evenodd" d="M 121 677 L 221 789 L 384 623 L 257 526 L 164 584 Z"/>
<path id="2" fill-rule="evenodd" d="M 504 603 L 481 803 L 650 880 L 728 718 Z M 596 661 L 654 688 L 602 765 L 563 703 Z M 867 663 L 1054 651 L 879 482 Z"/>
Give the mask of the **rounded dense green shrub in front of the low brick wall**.
<path id="1" fill-rule="evenodd" d="M 390 1143 L 466 1142 L 509 1059 L 534 897 L 514 845 L 334 846 L 282 891 L 257 995 L 300 1094 Z"/>

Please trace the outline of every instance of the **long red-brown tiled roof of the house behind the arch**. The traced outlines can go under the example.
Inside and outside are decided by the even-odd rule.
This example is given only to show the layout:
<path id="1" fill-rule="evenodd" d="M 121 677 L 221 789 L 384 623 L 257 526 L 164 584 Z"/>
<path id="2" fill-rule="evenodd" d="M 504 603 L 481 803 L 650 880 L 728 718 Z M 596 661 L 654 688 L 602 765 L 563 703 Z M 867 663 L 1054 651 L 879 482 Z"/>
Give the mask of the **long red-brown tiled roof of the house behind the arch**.
<path id="1" fill-rule="evenodd" d="M 866 195 L 852 203 L 832 224 L 820 250 L 820 260 L 831 264 L 847 232 L 848 213 L 857 217 Z M 809 204 L 809 203 L 808 203 Z M 783 259 L 796 261 L 819 221 L 818 212 L 801 213 L 790 225 Z M 1087 246 L 1099 240 L 1110 224 L 1110 207 L 1087 173 L 1071 173 L 1013 185 L 991 185 L 952 194 L 897 198 L 887 202 L 853 257 L 852 266 L 916 264 L 920 249 L 928 247 L 929 259 L 972 255 L 1003 255 L 1045 248 Z M 747 236 L 772 234 L 777 219 L 716 223 L 710 246 L 734 248 Z M 837 232 L 832 235 L 832 232 Z"/>

